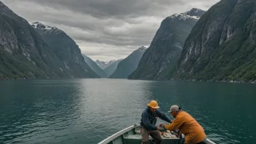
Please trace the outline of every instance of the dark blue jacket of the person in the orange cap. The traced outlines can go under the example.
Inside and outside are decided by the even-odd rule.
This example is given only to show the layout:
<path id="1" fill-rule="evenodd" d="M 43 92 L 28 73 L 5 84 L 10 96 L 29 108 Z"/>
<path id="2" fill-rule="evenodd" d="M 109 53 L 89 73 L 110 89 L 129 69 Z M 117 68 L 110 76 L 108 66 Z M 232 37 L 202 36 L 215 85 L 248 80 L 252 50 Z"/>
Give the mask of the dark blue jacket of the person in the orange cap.
<path id="1" fill-rule="evenodd" d="M 141 115 L 140 125 L 144 126 L 147 130 L 156 130 L 156 117 L 159 117 L 168 123 L 171 121 L 171 119 L 169 119 L 169 117 L 161 111 L 156 109 L 156 111 L 152 113 L 151 109 L 148 107 L 145 109 L 145 111 L 143 111 Z"/>

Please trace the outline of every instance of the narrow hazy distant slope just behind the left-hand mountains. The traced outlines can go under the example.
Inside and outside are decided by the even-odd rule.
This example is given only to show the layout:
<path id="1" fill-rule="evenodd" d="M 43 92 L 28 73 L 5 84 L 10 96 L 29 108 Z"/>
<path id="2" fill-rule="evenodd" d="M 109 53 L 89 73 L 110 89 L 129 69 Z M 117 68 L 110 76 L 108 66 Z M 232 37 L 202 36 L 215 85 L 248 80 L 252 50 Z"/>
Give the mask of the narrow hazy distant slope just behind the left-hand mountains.
<path id="1" fill-rule="evenodd" d="M 108 78 L 108 75 L 105 73 L 105 71 L 103 71 L 103 69 L 101 69 L 97 65 L 97 63 L 95 63 L 95 61 L 93 61 L 92 59 L 90 59 L 86 55 L 83 55 L 83 57 L 84 57 L 85 63 L 87 63 L 87 65 L 89 65 L 89 67 L 92 68 L 92 70 L 95 71 L 95 73 L 97 73 L 97 75 L 99 75 L 102 78 Z"/>

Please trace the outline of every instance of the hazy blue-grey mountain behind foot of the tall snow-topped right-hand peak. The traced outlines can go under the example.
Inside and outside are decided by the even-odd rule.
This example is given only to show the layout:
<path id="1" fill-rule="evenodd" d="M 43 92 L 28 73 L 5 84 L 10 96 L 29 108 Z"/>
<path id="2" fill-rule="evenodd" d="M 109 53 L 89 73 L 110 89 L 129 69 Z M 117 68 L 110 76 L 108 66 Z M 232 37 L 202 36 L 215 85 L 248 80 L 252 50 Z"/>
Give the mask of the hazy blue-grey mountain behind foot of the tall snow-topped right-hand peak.
<path id="1" fill-rule="evenodd" d="M 137 65 L 139 64 L 141 57 L 143 57 L 146 49 L 146 47 L 140 47 L 139 49 L 132 52 L 132 54 L 127 58 L 121 60 L 121 62 L 117 65 L 116 71 L 112 73 L 110 78 L 127 79 L 127 76 L 136 70 Z"/>

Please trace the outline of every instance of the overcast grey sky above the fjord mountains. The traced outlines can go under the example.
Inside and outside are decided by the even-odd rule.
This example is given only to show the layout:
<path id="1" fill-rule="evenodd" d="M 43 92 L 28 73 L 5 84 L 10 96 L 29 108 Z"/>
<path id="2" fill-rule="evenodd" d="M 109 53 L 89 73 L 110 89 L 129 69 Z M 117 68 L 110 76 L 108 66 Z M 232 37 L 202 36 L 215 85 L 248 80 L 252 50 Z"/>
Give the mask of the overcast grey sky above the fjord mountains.
<path id="1" fill-rule="evenodd" d="M 162 20 L 219 0 L 0 0 L 28 22 L 56 26 L 92 60 L 125 58 L 149 46 Z"/>

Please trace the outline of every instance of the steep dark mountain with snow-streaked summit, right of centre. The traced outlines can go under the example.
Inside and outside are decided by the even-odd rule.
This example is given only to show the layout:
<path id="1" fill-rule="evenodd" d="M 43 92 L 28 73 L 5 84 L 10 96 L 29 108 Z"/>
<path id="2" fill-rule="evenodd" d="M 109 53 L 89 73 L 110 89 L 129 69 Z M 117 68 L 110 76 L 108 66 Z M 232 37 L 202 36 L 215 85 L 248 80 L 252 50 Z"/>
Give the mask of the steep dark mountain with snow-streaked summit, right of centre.
<path id="1" fill-rule="evenodd" d="M 128 79 L 171 79 L 185 39 L 203 14 L 203 10 L 193 8 L 164 19 L 151 46 Z"/>

